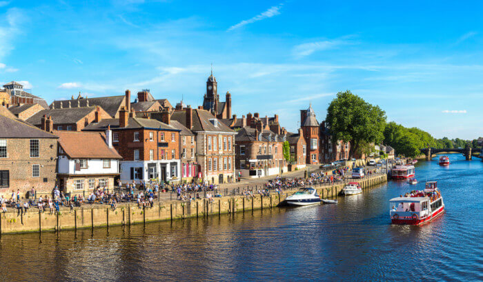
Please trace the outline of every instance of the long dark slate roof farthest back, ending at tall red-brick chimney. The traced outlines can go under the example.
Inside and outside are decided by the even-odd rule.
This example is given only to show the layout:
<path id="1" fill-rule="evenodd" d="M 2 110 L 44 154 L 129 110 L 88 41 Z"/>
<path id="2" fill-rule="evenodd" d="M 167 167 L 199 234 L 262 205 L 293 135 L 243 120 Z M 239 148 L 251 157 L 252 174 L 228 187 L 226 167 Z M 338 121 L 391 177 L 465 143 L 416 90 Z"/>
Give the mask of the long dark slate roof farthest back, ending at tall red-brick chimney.
<path id="1" fill-rule="evenodd" d="M 79 108 L 79 107 L 86 107 L 87 101 L 89 101 L 89 106 L 92 105 L 99 105 L 103 110 L 105 110 L 111 117 L 115 117 L 121 105 L 124 105 L 124 98 L 126 96 L 108 96 L 108 97 L 97 97 L 97 98 L 82 98 L 82 99 L 70 99 L 70 100 L 62 100 L 62 101 L 53 101 L 50 104 L 50 108 L 59 109 L 61 108 L 69 108 L 69 101 L 70 101 L 70 108 Z"/>

